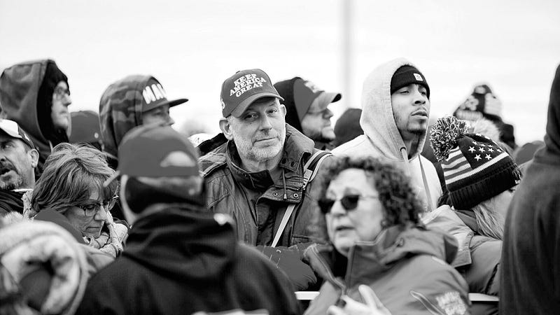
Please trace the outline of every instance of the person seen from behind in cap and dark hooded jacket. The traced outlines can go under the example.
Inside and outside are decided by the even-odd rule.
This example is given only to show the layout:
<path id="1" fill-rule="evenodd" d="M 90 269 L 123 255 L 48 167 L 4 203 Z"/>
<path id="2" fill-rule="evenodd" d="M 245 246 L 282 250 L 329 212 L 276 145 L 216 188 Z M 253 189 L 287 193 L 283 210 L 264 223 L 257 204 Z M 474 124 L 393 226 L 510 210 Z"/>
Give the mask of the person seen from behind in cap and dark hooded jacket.
<path id="1" fill-rule="evenodd" d="M 229 216 L 208 213 L 188 139 L 144 125 L 124 137 L 118 156 L 132 229 L 123 254 L 88 281 L 77 314 L 300 314 L 288 279 L 237 242 Z"/>

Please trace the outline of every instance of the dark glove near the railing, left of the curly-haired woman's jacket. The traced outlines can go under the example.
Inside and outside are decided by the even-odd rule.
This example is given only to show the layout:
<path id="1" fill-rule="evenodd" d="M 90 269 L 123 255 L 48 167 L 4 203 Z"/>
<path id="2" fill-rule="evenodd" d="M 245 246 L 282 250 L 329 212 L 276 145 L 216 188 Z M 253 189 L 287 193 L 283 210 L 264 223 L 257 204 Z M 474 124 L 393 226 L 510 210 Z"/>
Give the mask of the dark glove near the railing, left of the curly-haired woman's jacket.
<path id="1" fill-rule="evenodd" d="M 315 273 L 302 261 L 302 252 L 286 247 L 257 246 L 258 251 L 265 255 L 276 267 L 281 269 L 295 290 L 305 290 L 317 282 Z"/>

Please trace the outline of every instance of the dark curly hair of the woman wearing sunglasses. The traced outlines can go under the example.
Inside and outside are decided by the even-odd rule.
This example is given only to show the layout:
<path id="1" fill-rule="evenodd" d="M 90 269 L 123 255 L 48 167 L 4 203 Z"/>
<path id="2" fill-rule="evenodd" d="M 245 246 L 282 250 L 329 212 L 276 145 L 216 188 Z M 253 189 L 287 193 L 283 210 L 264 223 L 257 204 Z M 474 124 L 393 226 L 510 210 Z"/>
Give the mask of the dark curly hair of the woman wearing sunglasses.
<path id="1" fill-rule="evenodd" d="M 420 222 L 422 207 L 410 186 L 410 179 L 394 165 L 377 158 L 339 158 L 327 169 L 328 179 L 325 181 L 323 194 L 330 181 L 345 169 L 363 169 L 367 178 L 373 180 L 374 188 L 379 193 L 379 201 L 383 205 L 382 228 Z"/>

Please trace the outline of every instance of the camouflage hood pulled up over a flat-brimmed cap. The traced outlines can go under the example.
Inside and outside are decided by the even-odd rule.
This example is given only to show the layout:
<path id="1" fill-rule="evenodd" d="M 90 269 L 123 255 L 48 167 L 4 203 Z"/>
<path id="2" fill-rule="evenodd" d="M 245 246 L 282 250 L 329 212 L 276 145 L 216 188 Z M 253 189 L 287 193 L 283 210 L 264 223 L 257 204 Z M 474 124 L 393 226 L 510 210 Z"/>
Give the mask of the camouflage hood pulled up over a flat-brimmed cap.
<path id="1" fill-rule="evenodd" d="M 104 153 L 111 167 L 118 165 L 118 145 L 132 128 L 142 125 L 142 90 L 151 76 L 127 76 L 109 85 L 99 102 Z"/>

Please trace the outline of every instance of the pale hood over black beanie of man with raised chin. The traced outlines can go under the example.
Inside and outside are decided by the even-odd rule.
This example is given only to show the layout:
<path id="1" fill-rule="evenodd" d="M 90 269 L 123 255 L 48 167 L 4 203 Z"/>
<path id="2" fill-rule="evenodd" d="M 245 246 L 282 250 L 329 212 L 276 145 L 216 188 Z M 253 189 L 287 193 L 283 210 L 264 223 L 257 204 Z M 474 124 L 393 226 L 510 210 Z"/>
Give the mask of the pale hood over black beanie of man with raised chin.
<path id="1" fill-rule="evenodd" d="M 374 69 L 365 78 L 362 90 L 360 126 L 372 144 L 390 160 L 403 160 L 401 149 L 406 148 L 395 123 L 391 105 L 391 79 L 401 66 L 416 68 L 405 58 L 393 59 Z M 422 152 L 425 141 L 426 132 L 419 137 L 416 152 L 408 154 L 411 160 Z"/>

